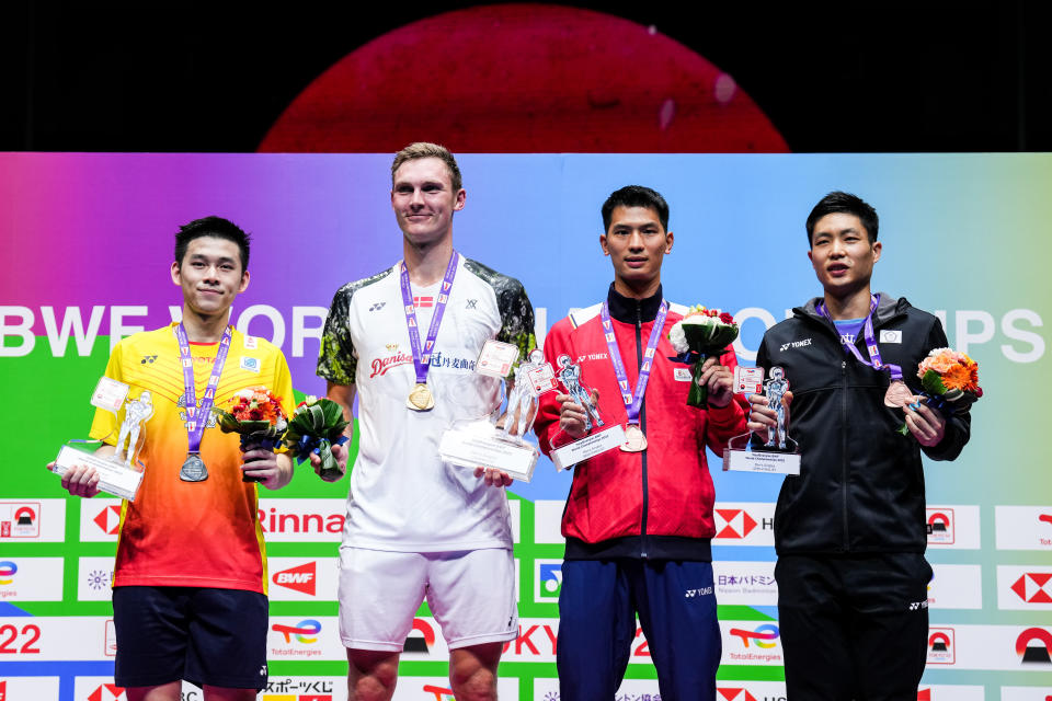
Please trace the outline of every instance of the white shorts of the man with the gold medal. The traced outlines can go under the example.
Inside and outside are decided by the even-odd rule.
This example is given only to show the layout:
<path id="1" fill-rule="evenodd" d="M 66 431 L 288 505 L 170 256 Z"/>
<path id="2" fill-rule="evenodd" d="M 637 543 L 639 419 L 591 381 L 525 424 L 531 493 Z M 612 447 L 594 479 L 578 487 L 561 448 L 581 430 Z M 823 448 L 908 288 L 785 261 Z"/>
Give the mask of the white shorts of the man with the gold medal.
<path id="1" fill-rule="evenodd" d="M 401 652 L 425 597 L 449 650 L 518 634 L 511 550 L 340 549 L 340 637 L 345 647 Z"/>

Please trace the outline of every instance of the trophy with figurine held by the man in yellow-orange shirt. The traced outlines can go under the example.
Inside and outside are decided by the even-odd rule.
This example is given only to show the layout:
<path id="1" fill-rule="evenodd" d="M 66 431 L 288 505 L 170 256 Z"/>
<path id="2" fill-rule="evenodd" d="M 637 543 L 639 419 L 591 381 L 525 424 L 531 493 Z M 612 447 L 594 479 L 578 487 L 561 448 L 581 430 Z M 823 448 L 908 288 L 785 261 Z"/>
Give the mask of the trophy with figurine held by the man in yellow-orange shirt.
<path id="1" fill-rule="evenodd" d="M 139 393 L 139 399 L 125 402 L 129 390 L 130 388 L 124 382 L 103 377 L 99 380 L 99 386 L 91 397 L 92 405 L 110 412 L 115 418 L 119 416 L 121 409 L 124 409 L 124 421 L 121 422 L 121 429 L 117 435 L 116 452 L 112 456 L 101 457 L 92 452 L 77 450 L 70 446 L 62 446 L 58 451 L 58 457 L 55 458 L 53 472 L 61 475 L 73 466 L 88 466 L 99 473 L 99 489 L 101 491 L 129 502 L 135 501 L 139 484 L 142 482 L 142 468 L 137 461 L 139 450 L 145 444 L 140 440 L 142 424 L 153 416 L 153 401 L 148 391 L 142 391 Z M 125 445 L 127 445 L 127 449 L 125 449 Z"/>

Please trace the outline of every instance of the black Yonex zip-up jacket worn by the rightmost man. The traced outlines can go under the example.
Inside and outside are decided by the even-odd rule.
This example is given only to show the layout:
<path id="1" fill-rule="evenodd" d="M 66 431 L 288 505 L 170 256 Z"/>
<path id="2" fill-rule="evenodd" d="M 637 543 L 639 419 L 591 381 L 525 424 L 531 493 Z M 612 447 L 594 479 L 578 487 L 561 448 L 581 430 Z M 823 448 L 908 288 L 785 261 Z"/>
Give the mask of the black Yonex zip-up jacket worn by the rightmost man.
<path id="1" fill-rule="evenodd" d="M 887 371 L 859 363 L 841 346 L 834 325 L 815 303 L 764 334 L 756 365 L 769 375 L 781 366 L 792 391 L 789 436 L 800 444 L 799 476 L 787 476 L 775 509 L 779 554 L 924 552 L 924 471 L 921 450 L 933 460 L 953 460 L 970 435 L 971 417 L 957 414 L 934 448 L 902 436 L 902 410 L 884 406 Z M 947 346 L 939 320 L 904 298 L 880 294 L 873 333 L 885 364 L 902 367 L 914 392 L 917 365 Z M 857 346 L 868 357 L 861 331 Z"/>

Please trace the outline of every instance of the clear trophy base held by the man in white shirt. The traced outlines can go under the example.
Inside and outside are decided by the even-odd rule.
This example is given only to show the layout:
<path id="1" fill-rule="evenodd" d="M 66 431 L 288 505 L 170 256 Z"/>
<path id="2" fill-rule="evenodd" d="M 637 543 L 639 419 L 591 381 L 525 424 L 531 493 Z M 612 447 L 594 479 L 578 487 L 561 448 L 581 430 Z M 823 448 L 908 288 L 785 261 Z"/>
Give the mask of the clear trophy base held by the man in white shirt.
<path id="1" fill-rule="evenodd" d="M 461 468 L 494 468 L 521 482 L 534 476 L 539 451 L 518 436 L 510 436 L 481 418 L 458 422 L 442 435 L 438 455 Z"/>

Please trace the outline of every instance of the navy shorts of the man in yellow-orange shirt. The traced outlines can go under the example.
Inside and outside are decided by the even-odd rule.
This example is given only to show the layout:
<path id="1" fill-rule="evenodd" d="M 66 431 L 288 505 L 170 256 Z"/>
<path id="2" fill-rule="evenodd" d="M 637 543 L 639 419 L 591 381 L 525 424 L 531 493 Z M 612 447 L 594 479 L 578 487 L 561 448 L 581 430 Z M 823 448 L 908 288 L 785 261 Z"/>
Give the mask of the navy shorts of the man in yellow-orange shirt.
<path id="1" fill-rule="evenodd" d="M 266 686 L 267 599 L 256 591 L 199 587 L 116 587 L 114 681 L 155 687 L 179 679 L 202 687 Z"/>

